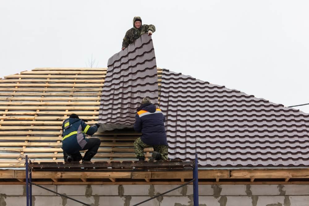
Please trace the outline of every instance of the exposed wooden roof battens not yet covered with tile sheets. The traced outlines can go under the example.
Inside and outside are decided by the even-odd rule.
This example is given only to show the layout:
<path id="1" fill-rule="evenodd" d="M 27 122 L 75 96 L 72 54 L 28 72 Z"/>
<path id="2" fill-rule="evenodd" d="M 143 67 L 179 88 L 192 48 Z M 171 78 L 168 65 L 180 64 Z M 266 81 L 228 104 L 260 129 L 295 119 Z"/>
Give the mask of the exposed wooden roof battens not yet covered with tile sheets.
<path id="1" fill-rule="evenodd" d="M 24 167 L 25 154 L 37 162 L 63 162 L 62 121 L 76 113 L 89 124 L 97 122 L 106 70 L 37 68 L 0 80 L 0 139 L 5 140 L 0 142 L 0 167 Z M 93 135 L 102 141 L 94 160 L 135 160 L 133 141 L 138 136 Z M 145 149 L 146 158 L 152 150 Z"/>

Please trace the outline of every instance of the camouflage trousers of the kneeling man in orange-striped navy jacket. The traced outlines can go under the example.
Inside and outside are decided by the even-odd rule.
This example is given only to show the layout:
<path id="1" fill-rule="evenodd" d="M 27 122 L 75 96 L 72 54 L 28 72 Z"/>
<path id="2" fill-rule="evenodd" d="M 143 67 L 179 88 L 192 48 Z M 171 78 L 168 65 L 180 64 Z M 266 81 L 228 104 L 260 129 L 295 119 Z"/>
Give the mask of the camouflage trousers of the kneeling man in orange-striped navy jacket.
<path id="1" fill-rule="evenodd" d="M 144 155 L 144 148 L 153 147 L 155 152 L 159 152 L 161 154 L 161 157 L 163 160 L 167 160 L 167 145 L 146 145 L 142 142 L 141 138 L 138 137 L 134 141 L 134 152 L 136 155 L 136 158 L 145 158 Z"/>

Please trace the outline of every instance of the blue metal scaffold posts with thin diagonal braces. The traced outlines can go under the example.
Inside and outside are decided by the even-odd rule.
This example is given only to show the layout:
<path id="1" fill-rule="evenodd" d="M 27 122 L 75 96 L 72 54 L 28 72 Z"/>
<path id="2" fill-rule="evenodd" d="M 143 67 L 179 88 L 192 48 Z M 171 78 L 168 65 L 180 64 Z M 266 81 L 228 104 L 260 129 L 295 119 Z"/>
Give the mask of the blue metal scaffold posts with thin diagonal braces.
<path id="1" fill-rule="evenodd" d="M 47 191 L 50 191 L 50 192 L 53 192 L 57 195 L 60 195 L 60 196 L 63 196 L 63 197 L 66 197 L 70 200 L 73 200 L 75 202 L 78 202 L 80 204 L 83 204 L 83 205 L 86 205 L 86 206 L 90 206 L 89 204 L 86 204 L 86 203 L 83 203 L 81 201 L 78 201 L 78 200 L 75 200 L 74 198 L 71 198 L 69 196 L 66 196 L 66 195 L 63 195 L 63 194 L 60 194 L 58 192 L 55 192 L 55 191 L 52 191 L 46 187 L 43 187 L 41 185 L 38 185 L 36 183 L 32 183 L 32 168 L 29 167 L 29 163 L 31 164 L 31 160 L 28 162 L 28 155 L 26 155 L 26 201 L 27 201 L 27 206 L 32 206 L 32 184 L 37 186 L 37 187 L 40 187 L 40 188 L 43 188 Z M 192 171 L 193 171 L 193 179 L 190 180 L 189 182 L 187 183 L 184 183 L 178 187 L 175 187 L 169 191 L 166 191 L 166 192 L 163 192 L 162 194 L 159 194 L 159 195 L 156 195 L 152 198 L 149 198 L 147 200 L 144 200 L 138 204 L 135 204 L 133 206 L 137 206 L 137 205 L 140 205 L 140 204 L 143 204 L 145 202 L 148 202 L 149 200 L 152 200 L 154 198 L 157 198 L 159 196 L 162 196 L 162 195 L 165 195 L 171 191 L 174 191 L 180 187 L 184 187 L 185 185 L 188 185 L 190 183 L 193 182 L 193 206 L 198 206 L 198 160 L 197 160 L 197 154 L 195 154 L 195 160 L 193 161 L 193 166 L 192 166 Z"/>

